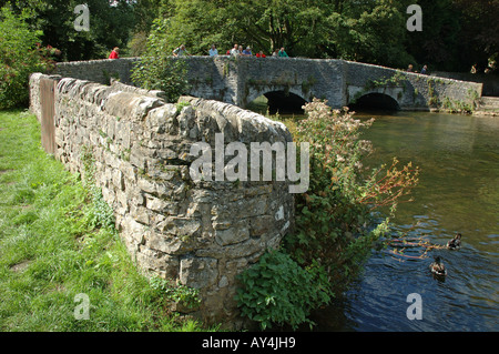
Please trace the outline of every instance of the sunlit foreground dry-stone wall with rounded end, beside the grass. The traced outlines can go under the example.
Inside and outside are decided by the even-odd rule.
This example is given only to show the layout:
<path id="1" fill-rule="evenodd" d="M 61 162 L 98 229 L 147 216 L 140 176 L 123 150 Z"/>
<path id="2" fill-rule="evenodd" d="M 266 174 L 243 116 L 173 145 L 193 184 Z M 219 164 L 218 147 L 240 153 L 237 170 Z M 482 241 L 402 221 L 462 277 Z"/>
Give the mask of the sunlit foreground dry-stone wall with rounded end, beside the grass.
<path id="1" fill-rule="evenodd" d="M 43 78 L 30 79 L 37 115 Z M 236 275 L 289 231 L 293 195 L 288 182 L 193 181 L 191 146 L 214 148 L 220 132 L 225 144 L 292 141 L 284 124 L 223 102 L 184 97 L 172 104 L 157 92 L 72 78 L 57 87 L 55 158 L 84 174 L 90 154 L 138 265 L 198 289 L 202 305 L 192 315 L 237 328 Z"/>

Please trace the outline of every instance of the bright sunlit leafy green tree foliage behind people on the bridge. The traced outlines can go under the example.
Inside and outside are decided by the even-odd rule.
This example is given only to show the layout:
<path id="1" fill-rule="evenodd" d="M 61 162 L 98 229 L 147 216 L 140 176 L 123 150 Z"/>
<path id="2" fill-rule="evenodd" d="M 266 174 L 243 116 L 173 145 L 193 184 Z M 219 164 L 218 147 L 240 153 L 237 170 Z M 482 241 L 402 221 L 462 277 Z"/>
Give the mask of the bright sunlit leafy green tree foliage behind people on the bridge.
<path id="1" fill-rule="evenodd" d="M 160 12 L 169 19 L 169 41 L 196 54 L 211 43 L 230 49 L 237 42 L 255 51 L 285 47 L 292 55 L 405 67 L 414 60 L 404 48 L 405 2 L 171 0 Z"/>

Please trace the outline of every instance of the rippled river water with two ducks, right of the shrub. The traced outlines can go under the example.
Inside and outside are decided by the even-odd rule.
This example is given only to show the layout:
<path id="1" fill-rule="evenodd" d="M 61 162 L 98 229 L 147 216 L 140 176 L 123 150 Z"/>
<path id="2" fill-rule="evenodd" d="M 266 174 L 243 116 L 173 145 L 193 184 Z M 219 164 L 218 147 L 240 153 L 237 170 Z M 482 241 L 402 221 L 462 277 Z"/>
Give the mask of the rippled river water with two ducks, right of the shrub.
<path id="1" fill-rule="evenodd" d="M 364 139 L 370 162 L 413 161 L 420 168 L 414 202 L 400 204 L 395 231 L 445 244 L 462 234 L 459 251 L 434 250 L 426 259 L 373 251 L 359 279 L 327 309 L 315 331 L 499 331 L 499 119 L 430 112 L 369 112 Z M 406 255 L 420 255 L 421 247 Z M 444 280 L 429 264 L 440 255 Z M 421 320 L 409 320 L 409 294 L 420 295 Z M 413 312 L 414 313 L 414 312 Z"/>

